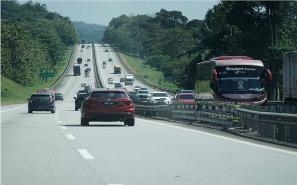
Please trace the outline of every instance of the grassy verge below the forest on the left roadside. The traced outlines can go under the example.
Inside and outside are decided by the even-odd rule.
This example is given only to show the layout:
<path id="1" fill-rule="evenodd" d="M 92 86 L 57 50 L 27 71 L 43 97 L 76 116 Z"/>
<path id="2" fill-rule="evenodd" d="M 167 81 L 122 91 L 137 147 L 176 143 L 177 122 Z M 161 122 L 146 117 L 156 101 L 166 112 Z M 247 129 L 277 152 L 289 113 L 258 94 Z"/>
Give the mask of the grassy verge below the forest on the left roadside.
<path id="1" fill-rule="evenodd" d="M 70 59 L 72 49 L 73 46 L 65 50 L 64 59 L 55 66 L 55 76 L 48 77 L 48 82 L 45 82 L 45 80 L 42 81 L 41 78 L 39 78 L 32 86 L 25 87 L 1 75 L 1 106 L 26 103 L 30 95 L 35 93 L 38 88 L 50 87 L 53 82 L 63 74 Z"/>

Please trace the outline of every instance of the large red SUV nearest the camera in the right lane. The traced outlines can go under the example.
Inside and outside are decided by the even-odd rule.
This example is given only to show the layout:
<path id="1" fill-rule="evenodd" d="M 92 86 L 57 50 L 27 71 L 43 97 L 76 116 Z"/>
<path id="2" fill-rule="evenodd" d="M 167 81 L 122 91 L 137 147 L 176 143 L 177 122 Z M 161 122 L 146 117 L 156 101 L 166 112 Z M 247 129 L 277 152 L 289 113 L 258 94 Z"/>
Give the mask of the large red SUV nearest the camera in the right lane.
<path id="1" fill-rule="evenodd" d="M 122 89 L 91 89 L 81 107 L 81 125 L 90 121 L 124 121 L 134 126 L 135 109 L 132 100 Z"/>

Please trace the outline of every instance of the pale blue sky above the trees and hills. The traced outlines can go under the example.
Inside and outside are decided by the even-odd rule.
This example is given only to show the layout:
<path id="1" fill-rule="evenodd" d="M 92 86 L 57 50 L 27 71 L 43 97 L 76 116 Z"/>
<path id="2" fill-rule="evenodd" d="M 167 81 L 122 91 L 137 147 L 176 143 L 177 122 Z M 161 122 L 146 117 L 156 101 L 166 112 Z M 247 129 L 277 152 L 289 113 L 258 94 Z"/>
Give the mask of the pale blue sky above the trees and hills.
<path id="1" fill-rule="evenodd" d="M 149 14 L 154 15 L 161 8 L 167 11 L 178 10 L 183 13 L 189 20 L 203 20 L 208 9 L 217 0 L 146 0 L 146 1 L 92 1 L 92 0 L 33 0 L 33 2 L 46 4 L 49 11 L 57 12 L 62 16 L 70 17 L 72 21 L 83 21 L 85 23 L 95 23 L 108 25 L 113 17 L 122 14 L 137 15 Z M 21 3 L 26 1 L 21 1 Z"/>

